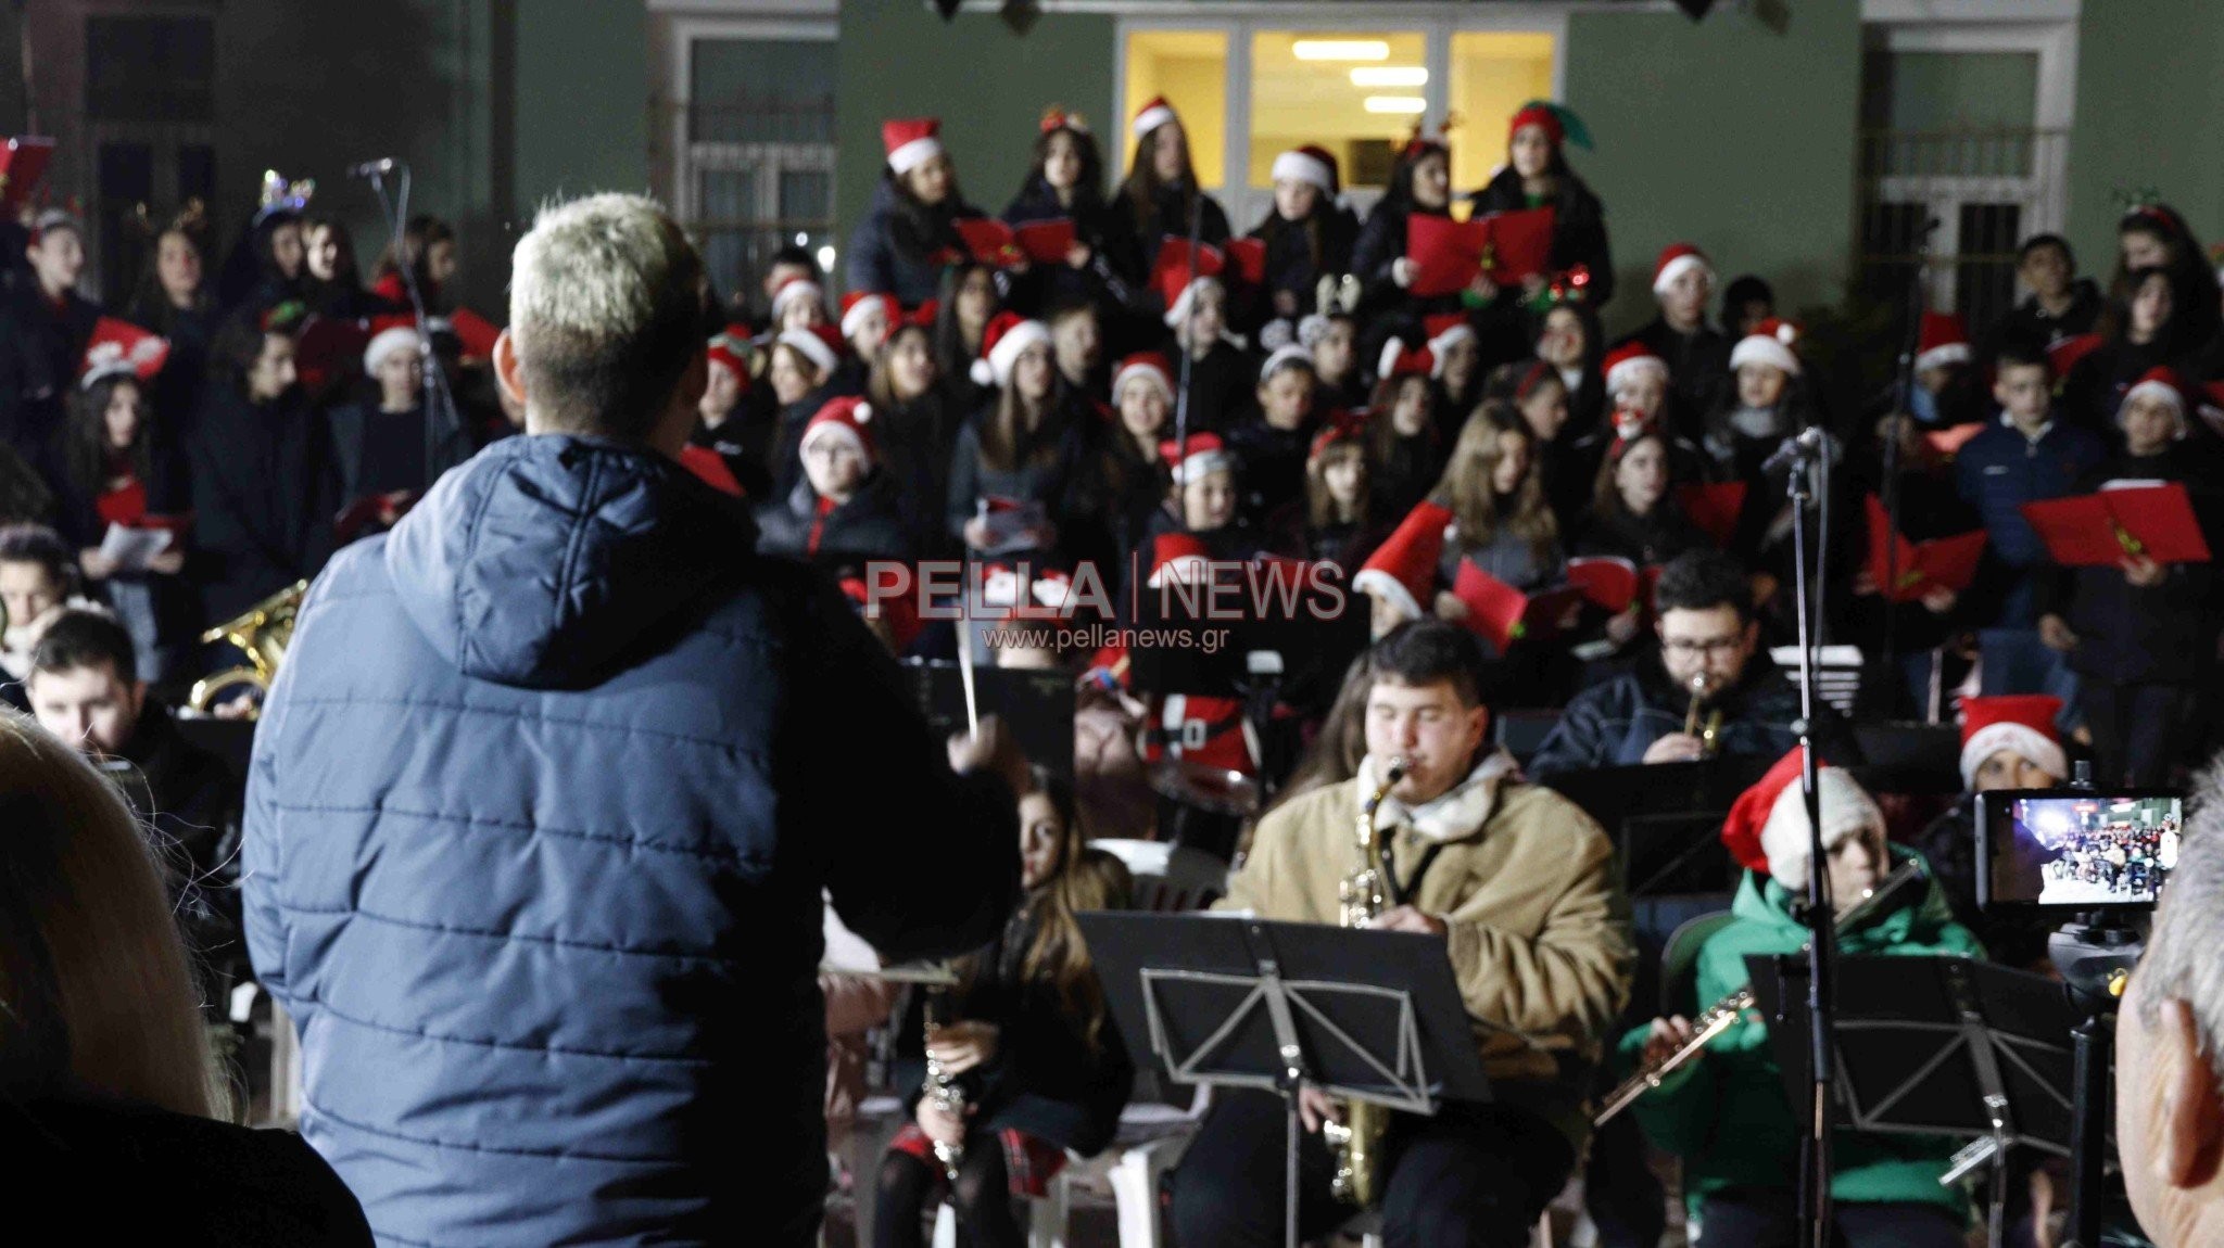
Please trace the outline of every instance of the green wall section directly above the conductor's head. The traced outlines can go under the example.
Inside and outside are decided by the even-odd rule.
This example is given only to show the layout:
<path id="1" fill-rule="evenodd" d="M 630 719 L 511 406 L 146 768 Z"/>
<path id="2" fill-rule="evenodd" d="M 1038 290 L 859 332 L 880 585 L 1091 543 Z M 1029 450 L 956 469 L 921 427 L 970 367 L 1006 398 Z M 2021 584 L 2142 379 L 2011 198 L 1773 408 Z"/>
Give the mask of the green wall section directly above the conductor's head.
<path id="1" fill-rule="evenodd" d="M 641 0 L 516 0 L 520 229 L 552 195 L 649 189 L 649 16 Z"/>

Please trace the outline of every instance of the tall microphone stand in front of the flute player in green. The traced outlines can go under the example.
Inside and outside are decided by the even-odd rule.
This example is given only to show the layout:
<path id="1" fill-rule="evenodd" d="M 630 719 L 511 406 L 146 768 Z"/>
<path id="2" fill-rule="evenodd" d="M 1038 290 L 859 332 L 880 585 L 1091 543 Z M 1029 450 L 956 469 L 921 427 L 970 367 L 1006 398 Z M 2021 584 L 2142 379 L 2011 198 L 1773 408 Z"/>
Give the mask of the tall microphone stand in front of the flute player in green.
<path id="1" fill-rule="evenodd" d="M 1808 466 L 1821 464 L 1821 489 L 1828 491 L 1830 451 L 1828 440 L 1815 449 L 1797 444 L 1786 491 L 1793 504 L 1793 577 L 1799 615 L 1799 795 L 1808 815 L 1808 1066 L 1813 1070 L 1813 1097 L 1808 1104 L 1808 1137 L 1799 1148 L 1799 1221 L 1806 1228 L 1801 1244 L 1808 1248 L 1830 1248 L 1830 1084 L 1833 1084 L 1833 966 L 1837 948 L 1833 944 L 1835 922 L 1830 908 L 1828 853 L 1821 844 L 1821 784 L 1815 757 L 1815 646 L 1817 615 L 1821 602 L 1808 597 L 1808 509 L 1813 486 Z M 1821 544 L 1821 535 L 1815 535 Z M 1819 577 L 1817 577 L 1819 580 Z M 1819 588 L 1819 586 L 1817 586 Z"/>

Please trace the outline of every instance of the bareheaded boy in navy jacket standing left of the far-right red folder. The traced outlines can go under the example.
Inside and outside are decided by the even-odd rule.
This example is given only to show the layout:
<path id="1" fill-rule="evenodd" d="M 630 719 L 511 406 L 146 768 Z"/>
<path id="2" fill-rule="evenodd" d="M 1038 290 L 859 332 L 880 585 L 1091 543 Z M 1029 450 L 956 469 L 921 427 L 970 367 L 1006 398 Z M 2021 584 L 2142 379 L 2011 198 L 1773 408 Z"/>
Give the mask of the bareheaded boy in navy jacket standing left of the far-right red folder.
<path id="1" fill-rule="evenodd" d="M 2031 575 L 2046 562 L 2046 544 L 2022 506 L 2075 493 L 2108 453 L 2099 435 L 2055 420 L 2053 380 L 2044 351 L 2004 349 L 1993 380 L 1999 422 L 1970 437 L 1955 457 L 1962 502 L 1977 509 L 1988 542 L 1993 584 L 1979 597 L 1999 604 L 1990 622 L 2004 628 L 2037 622 Z"/>

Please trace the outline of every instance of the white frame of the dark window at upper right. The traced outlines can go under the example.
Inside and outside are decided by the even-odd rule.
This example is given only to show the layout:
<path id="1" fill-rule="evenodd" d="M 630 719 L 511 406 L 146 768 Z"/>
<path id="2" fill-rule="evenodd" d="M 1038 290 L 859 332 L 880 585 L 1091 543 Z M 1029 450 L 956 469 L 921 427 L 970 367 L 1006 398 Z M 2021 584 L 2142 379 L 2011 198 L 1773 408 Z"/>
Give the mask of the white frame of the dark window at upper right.
<path id="1" fill-rule="evenodd" d="M 1861 24 L 1884 33 L 1886 51 L 2035 53 L 2033 142 L 2024 178 L 1879 178 L 1875 202 L 1924 204 L 1939 222 L 1937 255 L 1962 253 L 1966 202 L 2022 204 L 2019 229 L 2059 233 L 2068 222 L 2068 131 L 2077 118 L 2079 0 L 1861 0 Z M 1955 306 L 1959 269 L 1933 269 L 1935 298 Z"/>

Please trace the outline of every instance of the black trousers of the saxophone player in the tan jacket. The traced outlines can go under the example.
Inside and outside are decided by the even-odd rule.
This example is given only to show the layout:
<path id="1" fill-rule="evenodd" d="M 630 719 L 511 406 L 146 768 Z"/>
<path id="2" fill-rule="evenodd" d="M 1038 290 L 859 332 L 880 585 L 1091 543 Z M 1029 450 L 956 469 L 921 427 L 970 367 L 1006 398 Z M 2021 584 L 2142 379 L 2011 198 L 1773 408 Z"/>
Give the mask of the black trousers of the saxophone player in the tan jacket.
<path id="1" fill-rule="evenodd" d="M 1281 1244 L 1283 1099 L 1221 1095 L 1174 1170 L 1174 1241 L 1183 1248 Z M 1392 1117 L 1381 1195 L 1388 1248 L 1523 1248 L 1537 1215 L 1575 1168 L 1568 1139 L 1515 1106 L 1446 1106 Z M 1354 1212 L 1328 1192 L 1334 1159 L 1299 1137 L 1297 1226 L 1319 1239 Z"/>

